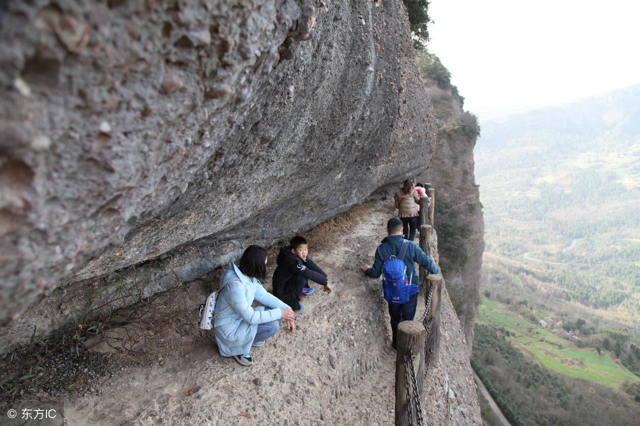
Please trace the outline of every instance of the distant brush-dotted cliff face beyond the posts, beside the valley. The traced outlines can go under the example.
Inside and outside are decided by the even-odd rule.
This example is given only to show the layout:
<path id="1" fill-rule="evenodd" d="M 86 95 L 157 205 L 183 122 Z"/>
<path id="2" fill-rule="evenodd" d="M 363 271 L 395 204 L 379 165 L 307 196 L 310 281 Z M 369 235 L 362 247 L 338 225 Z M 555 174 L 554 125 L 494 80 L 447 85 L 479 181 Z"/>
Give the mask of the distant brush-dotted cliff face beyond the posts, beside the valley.
<path id="1" fill-rule="evenodd" d="M 443 90 L 428 77 L 424 84 L 438 117 L 438 143 L 431 166 L 417 180 L 435 188 L 435 229 L 442 274 L 470 353 L 484 252 L 484 219 L 474 177 L 477 121 L 463 111 L 463 100 L 455 88 Z"/>

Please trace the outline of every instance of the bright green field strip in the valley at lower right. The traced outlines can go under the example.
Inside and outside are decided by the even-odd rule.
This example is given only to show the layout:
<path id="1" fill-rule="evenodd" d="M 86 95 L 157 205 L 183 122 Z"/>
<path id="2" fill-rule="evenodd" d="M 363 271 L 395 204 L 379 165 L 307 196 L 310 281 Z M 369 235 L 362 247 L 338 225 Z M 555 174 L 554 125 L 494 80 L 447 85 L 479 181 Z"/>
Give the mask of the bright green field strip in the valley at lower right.
<path id="1" fill-rule="evenodd" d="M 502 303 L 483 297 L 478 310 L 479 324 L 492 325 L 509 331 L 509 340 L 515 346 L 538 359 L 554 372 L 587 379 L 619 389 L 625 383 L 640 381 L 623 365 L 614 362 L 610 351 L 602 355 L 593 348 L 579 348 L 564 338 L 563 329 L 550 329 L 532 324 Z"/>

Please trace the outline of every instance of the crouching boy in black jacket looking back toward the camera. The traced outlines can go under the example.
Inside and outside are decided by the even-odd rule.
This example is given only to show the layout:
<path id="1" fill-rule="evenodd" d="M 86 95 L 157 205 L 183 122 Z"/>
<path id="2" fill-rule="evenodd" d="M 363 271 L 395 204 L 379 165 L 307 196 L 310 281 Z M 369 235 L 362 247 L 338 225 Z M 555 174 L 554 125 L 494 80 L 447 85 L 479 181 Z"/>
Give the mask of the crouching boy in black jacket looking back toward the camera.
<path id="1" fill-rule="evenodd" d="M 301 294 L 311 294 L 313 289 L 303 292 L 308 280 L 324 286 L 325 292 L 332 291 L 326 280 L 326 274 L 313 260 L 307 257 L 308 245 L 304 237 L 293 237 L 289 246 L 282 246 L 273 271 L 273 296 L 298 311 L 303 308 L 300 304 Z"/>

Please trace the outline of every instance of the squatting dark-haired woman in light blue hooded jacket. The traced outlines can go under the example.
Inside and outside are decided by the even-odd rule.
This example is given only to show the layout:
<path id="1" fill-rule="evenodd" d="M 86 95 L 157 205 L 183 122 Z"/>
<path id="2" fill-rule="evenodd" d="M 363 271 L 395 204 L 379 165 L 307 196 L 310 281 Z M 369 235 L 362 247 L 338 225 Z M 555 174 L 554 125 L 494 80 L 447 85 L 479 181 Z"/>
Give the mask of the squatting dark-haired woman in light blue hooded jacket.
<path id="1" fill-rule="evenodd" d="M 232 356 L 242 365 L 252 365 L 251 347 L 262 346 L 287 321 L 294 330 L 291 307 L 269 294 L 259 280 L 267 274 L 267 251 L 260 246 L 244 250 L 239 265 L 230 260 L 220 278 L 218 301 L 214 310 L 214 333 L 221 356 Z M 264 306 L 252 308 L 253 300 Z"/>

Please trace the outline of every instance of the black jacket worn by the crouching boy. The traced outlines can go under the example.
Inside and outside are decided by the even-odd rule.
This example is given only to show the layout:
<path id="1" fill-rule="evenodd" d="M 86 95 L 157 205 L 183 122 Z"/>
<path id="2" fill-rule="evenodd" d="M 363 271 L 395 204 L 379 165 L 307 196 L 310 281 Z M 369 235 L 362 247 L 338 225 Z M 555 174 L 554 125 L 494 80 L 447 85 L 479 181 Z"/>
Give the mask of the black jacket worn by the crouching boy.
<path id="1" fill-rule="evenodd" d="M 291 253 L 291 247 L 282 246 L 278 259 L 276 260 L 276 270 L 273 271 L 273 296 L 281 301 L 300 301 L 300 294 L 296 293 L 291 284 L 291 279 L 296 275 L 301 275 L 314 283 L 326 285 L 326 274 L 310 258 L 302 260 Z"/>

